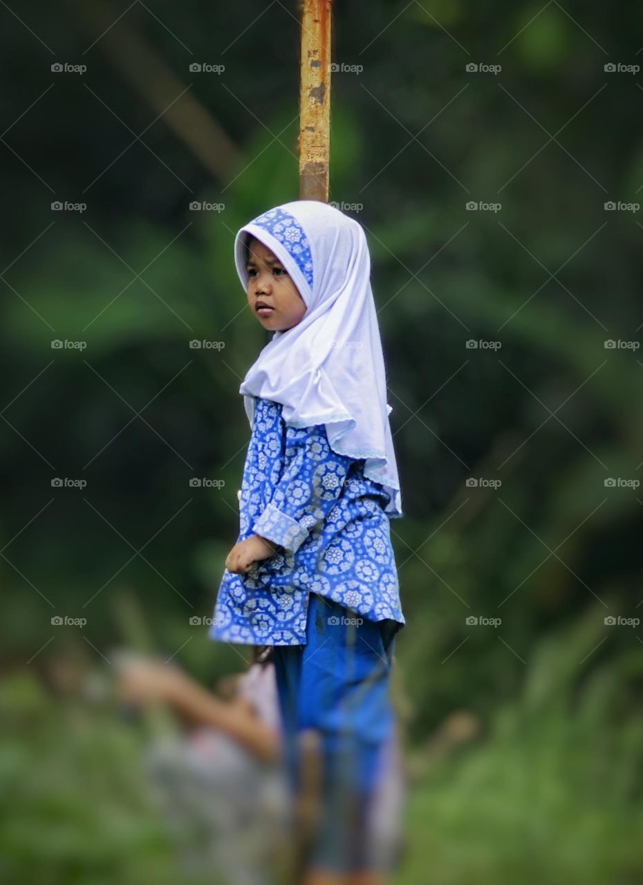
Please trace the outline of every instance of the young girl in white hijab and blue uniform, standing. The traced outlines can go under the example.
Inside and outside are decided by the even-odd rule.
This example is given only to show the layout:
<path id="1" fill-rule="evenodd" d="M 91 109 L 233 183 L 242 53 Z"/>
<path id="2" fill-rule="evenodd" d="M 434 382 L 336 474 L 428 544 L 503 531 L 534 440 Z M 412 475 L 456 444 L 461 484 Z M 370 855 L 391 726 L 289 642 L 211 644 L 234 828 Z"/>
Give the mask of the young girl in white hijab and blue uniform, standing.
<path id="1" fill-rule="evenodd" d="M 320 738 L 323 813 L 307 885 L 375 883 L 366 820 L 394 728 L 388 683 L 404 618 L 369 250 L 356 220 L 300 200 L 241 227 L 234 258 L 249 309 L 273 335 L 240 387 L 252 428 L 240 535 L 210 636 L 272 646 L 295 795 L 300 737 Z"/>

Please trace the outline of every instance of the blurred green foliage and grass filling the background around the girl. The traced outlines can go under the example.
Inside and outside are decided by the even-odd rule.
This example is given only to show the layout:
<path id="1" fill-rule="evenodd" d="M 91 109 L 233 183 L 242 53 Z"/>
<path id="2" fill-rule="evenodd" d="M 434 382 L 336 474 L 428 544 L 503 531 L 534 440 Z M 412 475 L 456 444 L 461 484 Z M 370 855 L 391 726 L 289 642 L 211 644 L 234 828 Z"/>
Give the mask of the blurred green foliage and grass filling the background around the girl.
<path id="1" fill-rule="evenodd" d="M 604 342 L 640 340 L 642 226 L 604 204 L 640 199 L 643 88 L 604 65 L 640 62 L 643 12 L 334 5 L 333 58 L 364 70 L 333 75 L 331 199 L 362 204 L 405 509 L 391 524 L 397 658 L 419 774 L 398 881 L 630 885 L 643 658 L 639 625 L 605 618 L 640 617 L 643 511 L 638 489 L 605 480 L 640 479 L 643 364 Z M 223 127 L 241 157 L 225 179 L 119 74 L 104 36 L 90 46 L 99 9 L 0 10 L 0 853 L 20 882 L 176 879 L 135 735 L 103 708 L 54 702 L 42 677 L 66 659 L 109 671 L 114 644 L 139 636 L 115 608 L 124 588 L 146 641 L 200 680 L 247 658 L 189 619 L 211 614 L 237 535 L 238 389 L 267 342 L 243 310 L 233 235 L 298 186 L 295 4 L 137 3 L 113 27 L 142 36 Z M 226 71 L 190 73 L 195 60 Z M 148 150 L 134 139 L 146 127 Z M 55 199 L 87 211 L 52 212 Z M 479 339 L 501 348 L 467 348 Z M 478 736 L 436 754 L 455 711 Z"/>

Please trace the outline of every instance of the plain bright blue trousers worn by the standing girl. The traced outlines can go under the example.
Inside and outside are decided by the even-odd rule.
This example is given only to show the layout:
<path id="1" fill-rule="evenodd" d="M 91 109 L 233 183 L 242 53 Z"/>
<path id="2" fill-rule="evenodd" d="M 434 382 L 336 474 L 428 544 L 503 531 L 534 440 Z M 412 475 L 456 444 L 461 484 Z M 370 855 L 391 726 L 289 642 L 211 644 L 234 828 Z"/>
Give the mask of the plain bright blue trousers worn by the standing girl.
<path id="1" fill-rule="evenodd" d="M 302 775 L 299 735 L 314 728 L 320 739 L 321 819 L 310 858 L 318 868 L 371 866 L 368 818 L 394 727 L 389 679 L 399 627 L 310 593 L 306 644 L 272 648 L 294 795 Z"/>

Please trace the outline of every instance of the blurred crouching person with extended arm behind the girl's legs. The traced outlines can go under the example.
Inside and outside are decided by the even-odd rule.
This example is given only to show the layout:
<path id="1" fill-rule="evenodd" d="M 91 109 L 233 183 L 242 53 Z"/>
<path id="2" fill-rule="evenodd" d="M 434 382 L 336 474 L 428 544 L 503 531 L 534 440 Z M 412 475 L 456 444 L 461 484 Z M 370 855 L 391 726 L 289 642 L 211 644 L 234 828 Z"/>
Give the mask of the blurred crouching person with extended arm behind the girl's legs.
<path id="1" fill-rule="evenodd" d="M 180 737 L 153 739 L 144 760 L 161 810 L 186 846 L 186 868 L 220 873 L 230 885 L 281 885 L 292 868 L 295 833 L 271 652 L 257 649 L 244 673 L 219 680 L 218 696 L 177 666 L 132 652 L 114 655 L 128 708 L 162 702 L 183 723 Z M 400 857 L 404 792 L 395 730 L 368 823 L 369 855 L 382 871 L 392 871 Z"/>

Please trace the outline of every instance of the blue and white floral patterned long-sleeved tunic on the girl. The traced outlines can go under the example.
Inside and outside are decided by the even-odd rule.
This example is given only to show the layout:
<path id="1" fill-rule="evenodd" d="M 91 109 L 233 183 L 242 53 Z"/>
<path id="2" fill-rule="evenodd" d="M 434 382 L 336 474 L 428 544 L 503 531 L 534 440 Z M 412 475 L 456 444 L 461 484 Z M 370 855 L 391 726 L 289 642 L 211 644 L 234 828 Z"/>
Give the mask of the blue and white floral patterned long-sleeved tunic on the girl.
<path id="1" fill-rule="evenodd" d="M 331 449 L 325 425 L 292 427 L 281 408 L 256 397 L 237 539 L 261 535 L 280 549 L 248 573 L 224 573 L 209 636 L 306 644 L 310 592 L 403 625 L 387 491 L 364 476 L 364 459 Z"/>

